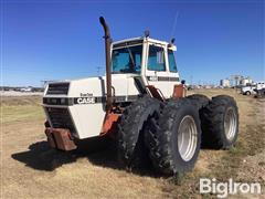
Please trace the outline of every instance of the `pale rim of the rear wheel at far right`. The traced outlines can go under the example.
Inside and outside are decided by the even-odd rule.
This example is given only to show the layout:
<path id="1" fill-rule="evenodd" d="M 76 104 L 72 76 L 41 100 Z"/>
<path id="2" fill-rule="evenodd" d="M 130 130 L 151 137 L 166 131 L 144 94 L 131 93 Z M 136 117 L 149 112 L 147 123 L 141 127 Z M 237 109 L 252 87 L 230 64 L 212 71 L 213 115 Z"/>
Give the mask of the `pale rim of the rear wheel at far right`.
<path id="1" fill-rule="evenodd" d="M 233 107 L 229 107 L 224 115 L 224 132 L 229 140 L 232 140 L 236 133 L 236 114 Z"/>

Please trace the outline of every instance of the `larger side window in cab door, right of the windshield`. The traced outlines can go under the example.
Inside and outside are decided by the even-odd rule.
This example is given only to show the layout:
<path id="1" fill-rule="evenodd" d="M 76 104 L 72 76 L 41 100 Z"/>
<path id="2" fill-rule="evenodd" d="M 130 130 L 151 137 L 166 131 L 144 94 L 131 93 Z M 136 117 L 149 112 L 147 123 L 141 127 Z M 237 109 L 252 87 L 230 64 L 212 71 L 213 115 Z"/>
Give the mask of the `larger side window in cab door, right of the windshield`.
<path id="1" fill-rule="evenodd" d="M 166 71 L 163 48 L 149 45 L 147 69 L 149 71 Z"/>

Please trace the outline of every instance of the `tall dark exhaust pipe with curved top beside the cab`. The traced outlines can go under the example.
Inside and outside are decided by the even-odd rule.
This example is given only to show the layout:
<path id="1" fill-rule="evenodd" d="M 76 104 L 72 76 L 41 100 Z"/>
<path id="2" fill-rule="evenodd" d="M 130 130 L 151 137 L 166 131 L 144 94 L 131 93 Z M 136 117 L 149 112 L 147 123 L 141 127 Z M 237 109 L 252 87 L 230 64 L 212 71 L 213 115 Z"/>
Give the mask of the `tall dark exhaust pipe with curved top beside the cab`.
<path id="1" fill-rule="evenodd" d="M 107 85 L 107 98 L 106 98 L 106 112 L 113 108 L 113 95 L 112 95 L 112 69 L 110 69 L 110 32 L 107 23 L 103 17 L 99 18 L 99 22 L 104 28 L 105 39 L 105 53 L 106 53 L 106 85 Z"/>

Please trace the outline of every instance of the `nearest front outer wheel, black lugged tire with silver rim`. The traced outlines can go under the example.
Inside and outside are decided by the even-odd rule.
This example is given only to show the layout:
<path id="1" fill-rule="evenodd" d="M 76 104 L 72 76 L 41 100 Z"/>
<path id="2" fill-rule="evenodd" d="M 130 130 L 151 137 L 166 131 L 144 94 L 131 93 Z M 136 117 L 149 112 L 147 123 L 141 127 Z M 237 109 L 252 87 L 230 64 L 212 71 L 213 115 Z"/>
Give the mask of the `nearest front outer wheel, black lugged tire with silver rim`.
<path id="1" fill-rule="evenodd" d="M 197 107 L 187 98 L 170 101 L 147 128 L 146 145 L 153 167 L 165 175 L 191 170 L 197 161 L 201 127 Z"/>

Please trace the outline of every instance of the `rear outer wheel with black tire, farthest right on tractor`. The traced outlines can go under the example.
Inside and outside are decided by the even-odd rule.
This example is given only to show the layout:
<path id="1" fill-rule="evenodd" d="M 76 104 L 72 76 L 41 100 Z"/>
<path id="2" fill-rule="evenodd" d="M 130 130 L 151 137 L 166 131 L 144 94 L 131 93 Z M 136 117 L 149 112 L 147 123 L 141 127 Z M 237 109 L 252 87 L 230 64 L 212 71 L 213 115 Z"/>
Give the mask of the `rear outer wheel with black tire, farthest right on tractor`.
<path id="1" fill-rule="evenodd" d="M 212 98 L 202 113 L 202 146 L 214 149 L 231 148 L 239 135 L 239 109 L 233 97 Z"/>

